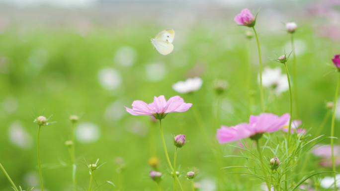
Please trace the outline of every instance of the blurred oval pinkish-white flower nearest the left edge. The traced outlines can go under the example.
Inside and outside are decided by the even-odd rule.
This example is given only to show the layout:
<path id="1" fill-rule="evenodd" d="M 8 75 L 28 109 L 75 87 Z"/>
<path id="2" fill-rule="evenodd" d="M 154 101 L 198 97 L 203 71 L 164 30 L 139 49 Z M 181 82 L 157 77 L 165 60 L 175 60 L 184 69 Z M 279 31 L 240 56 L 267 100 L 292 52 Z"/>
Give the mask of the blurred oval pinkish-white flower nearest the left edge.
<path id="1" fill-rule="evenodd" d="M 29 149 L 32 147 L 32 137 L 19 121 L 9 125 L 9 140 L 16 146 Z"/>

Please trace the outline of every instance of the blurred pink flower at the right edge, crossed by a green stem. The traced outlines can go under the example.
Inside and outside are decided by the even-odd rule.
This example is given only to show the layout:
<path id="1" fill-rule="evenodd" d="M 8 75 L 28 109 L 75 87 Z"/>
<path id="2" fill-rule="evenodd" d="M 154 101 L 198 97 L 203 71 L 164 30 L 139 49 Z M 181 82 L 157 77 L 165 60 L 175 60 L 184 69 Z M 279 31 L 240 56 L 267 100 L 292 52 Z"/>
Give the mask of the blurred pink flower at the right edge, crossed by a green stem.
<path id="1" fill-rule="evenodd" d="M 332 167 L 332 147 L 331 145 L 323 145 L 320 144 L 315 145 L 315 149 L 312 150 L 312 153 L 316 156 L 321 157 L 320 165 L 324 167 Z M 336 166 L 340 165 L 340 146 L 334 145 L 334 157 Z"/>

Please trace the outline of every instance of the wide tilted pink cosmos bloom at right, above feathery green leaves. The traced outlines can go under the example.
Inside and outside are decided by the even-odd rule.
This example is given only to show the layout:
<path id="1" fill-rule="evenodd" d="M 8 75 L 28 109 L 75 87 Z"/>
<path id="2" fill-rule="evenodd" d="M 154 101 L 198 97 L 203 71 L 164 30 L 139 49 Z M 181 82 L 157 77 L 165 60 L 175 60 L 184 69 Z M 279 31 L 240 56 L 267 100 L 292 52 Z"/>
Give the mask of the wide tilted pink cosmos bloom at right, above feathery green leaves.
<path id="1" fill-rule="evenodd" d="M 264 132 L 274 132 L 289 123 L 289 114 L 281 117 L 270 113 L 262 113 L 259 116 L 251 116 L 249 124 L 242 123 L 235 127 L 222 126 L 217 129 L 217 140 L 219 143 L 232 142 L 242 138 L 250 137 L 258 140 Z"/>

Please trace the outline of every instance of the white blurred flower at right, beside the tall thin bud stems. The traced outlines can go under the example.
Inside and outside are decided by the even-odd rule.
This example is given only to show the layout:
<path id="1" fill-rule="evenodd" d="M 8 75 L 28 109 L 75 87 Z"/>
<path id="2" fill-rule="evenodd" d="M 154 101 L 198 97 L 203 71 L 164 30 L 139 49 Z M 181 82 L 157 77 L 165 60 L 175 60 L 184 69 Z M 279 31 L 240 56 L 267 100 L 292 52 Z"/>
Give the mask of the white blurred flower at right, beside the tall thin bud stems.
<path id="1" fill-rule="evenodd" d="M 289 89 L 288 78 L 286 74 L 281 74 L 280 67 L 274 69 L 265 67 L 262 72 L 262 85 L 273 89 L 276 94 L 280 94 Z"/>

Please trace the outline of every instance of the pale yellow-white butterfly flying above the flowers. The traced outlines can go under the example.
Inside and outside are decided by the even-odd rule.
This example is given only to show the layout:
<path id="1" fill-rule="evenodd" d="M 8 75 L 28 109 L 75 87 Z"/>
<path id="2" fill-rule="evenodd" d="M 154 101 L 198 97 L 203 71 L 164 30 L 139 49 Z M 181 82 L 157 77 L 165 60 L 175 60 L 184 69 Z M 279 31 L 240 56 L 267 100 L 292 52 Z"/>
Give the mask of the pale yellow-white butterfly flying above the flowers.
<path id="1" fill-rule="evenodd" d="M 173 39 L 174 30 L 168 29 L 158 33 L 154 39 L 151 39 L 151 43 L 159 53 L 169 55 L 173 50 L 173 45 L 171 44 Z"/>

